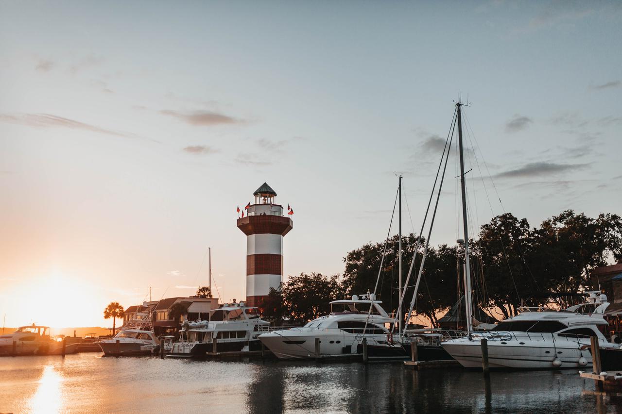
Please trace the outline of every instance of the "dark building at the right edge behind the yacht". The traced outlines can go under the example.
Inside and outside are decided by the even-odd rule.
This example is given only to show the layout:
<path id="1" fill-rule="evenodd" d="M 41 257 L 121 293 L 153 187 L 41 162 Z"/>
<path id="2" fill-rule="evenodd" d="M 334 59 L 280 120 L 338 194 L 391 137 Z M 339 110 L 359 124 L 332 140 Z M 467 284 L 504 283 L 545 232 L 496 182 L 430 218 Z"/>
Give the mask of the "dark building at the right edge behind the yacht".
<path id="1" fill-rule="evenodd" d="M 622 262 L 596 267 L 592 270 L 590 278 L 592 278 L 592 286 L 605 292 L 611 303 L 605 310 L 610 333 L 620 336 L 622 333 Z"/>

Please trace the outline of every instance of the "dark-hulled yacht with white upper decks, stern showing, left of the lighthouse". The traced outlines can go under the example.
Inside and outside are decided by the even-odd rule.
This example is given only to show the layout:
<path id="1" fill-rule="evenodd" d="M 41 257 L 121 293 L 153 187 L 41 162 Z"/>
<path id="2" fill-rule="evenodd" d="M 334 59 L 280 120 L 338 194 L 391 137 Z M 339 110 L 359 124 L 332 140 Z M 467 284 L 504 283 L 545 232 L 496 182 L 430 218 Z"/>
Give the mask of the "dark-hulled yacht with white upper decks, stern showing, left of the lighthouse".
<path id="1" fill-rule="evenodd" d="M 206 352 L 259 351 L 257 336 L 267 332 L 269 322 L 259 318 L 255 306 L 231 303 L 209 312 L 209 321 L 184 321 L 179 341 L 170 357 L 205 356 Z M 216 340 L 216 341 L 214 341 Z"/>

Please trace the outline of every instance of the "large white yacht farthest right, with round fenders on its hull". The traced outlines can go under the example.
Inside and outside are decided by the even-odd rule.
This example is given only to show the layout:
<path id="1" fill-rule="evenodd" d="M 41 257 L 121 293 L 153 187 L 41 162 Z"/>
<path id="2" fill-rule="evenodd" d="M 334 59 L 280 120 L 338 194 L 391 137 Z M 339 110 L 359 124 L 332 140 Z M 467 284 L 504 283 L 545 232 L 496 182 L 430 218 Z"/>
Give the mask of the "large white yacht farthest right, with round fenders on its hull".
<path id="1" fill-rule="evenodd" d="M 482 338 L 488 339 L 491 368 L 577 368 L 592 364 L 588 349 L 590 337 L 600 346 L 610 344 L 599 328 L 606 328 L 603 318 L 609 306 L 606 295 L 587 292 L 587 303 L 565 310 L 521 308 L 521 313 L 483 333 L 442 343 L 443 349 L 463 367 L 481 367 Z"/>

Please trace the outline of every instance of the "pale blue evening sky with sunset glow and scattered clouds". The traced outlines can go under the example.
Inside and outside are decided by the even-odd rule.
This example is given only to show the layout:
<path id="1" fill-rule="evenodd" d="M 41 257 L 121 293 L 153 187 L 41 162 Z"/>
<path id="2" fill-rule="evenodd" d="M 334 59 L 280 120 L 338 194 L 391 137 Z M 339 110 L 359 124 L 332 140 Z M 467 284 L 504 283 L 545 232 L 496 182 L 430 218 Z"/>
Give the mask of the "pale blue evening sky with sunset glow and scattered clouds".
<path id="1" fill-rule="evenodd" d="M 0 1 L 0 317 L 111 326 L 207 285 L 207 247 L 243 298 L 263 182 L 295 211 L 285 279 L 340 274 L 396 175 L 419 231 L 458 99 L 473 228 L 622 213 L 621 28 L 600 1 Z M 456 168 L 432 244 L 460 236 Z"/>

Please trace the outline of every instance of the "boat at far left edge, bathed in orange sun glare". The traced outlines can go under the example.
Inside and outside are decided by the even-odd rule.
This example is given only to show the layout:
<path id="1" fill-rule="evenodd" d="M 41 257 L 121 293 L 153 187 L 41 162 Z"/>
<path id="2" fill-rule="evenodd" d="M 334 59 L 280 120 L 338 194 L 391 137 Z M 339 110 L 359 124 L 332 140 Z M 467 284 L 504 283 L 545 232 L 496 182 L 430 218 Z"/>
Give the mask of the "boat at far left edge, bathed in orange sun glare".
<path id="1" fill-rule="evenodd" d="M 62 355 L 76 352 L 78 344 L 68 344 L 50 337 L 50 327 L 20 326 L 14 333 L 0 336 L 0 355 Z"/>

